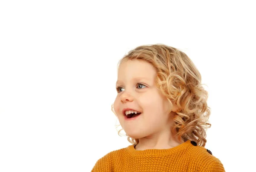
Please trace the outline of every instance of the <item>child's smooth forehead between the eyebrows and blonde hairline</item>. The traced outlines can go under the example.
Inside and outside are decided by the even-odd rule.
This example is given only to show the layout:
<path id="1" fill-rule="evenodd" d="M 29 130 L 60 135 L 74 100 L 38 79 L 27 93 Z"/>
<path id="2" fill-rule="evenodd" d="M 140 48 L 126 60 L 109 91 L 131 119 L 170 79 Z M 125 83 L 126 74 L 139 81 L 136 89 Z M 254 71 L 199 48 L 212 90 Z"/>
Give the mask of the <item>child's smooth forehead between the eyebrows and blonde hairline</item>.
<path id="1" fill-rule="evenodd" d="M 132 80 L 152 81 L 155 79 L 156 74 L 156 69 L 149 62 L 128 60 L 119 65 L 116 83 Z"/>

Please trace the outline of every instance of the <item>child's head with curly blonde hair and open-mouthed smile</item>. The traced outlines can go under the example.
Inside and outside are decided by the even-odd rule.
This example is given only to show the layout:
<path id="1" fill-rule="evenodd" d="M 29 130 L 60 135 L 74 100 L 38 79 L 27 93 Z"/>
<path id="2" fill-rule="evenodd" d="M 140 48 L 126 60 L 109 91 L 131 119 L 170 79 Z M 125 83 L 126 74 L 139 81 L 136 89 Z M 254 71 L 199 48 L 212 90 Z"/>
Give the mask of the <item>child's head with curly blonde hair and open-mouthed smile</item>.
<path id="1" fill-rule="evenodd" d="M 211 127 L 208 93 L 198 69 L 182 51 L 163 44 L 129 51 L 119 61 L 116 89 L 112 111 L 132 144 L 169 130 L 179 141 L 205 146 L 205 129 Z"/>

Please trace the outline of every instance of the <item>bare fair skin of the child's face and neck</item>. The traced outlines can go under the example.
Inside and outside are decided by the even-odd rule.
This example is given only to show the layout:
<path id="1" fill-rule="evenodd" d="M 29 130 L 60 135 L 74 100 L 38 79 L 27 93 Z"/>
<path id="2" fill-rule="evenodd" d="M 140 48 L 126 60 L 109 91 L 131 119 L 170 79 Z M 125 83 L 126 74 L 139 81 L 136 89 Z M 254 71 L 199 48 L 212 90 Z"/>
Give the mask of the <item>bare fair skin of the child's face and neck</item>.
<path id="1" fill-rule="evenodd" d="M 125 133 L 138 138 L 136 150 L 170 149 L 183 143 L 171 132 L 177 105 L 171 106 L 155 85 L 157 70 L 148 62 L 128 60 L 119 65 L 117 76 L 117 96 L 114 102 L 119 123 Z M 125 120 L 124 108 L 141 112 L 134 120 Z"/>

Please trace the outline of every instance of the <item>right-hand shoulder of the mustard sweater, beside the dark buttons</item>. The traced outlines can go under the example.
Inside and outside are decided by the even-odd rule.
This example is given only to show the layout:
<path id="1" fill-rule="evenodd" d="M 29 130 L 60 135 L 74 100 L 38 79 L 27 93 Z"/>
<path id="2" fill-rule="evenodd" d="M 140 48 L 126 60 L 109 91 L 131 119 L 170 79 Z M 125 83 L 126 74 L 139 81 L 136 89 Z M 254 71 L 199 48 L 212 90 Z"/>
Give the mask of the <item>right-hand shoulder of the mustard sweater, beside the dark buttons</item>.
<path id="1" fill-rule="evenodd" d="M 205 148 L 194 145 L 188 149 L 190 163 L 196 171 L 200 172 L 225 172 L 221 161 Z"/>

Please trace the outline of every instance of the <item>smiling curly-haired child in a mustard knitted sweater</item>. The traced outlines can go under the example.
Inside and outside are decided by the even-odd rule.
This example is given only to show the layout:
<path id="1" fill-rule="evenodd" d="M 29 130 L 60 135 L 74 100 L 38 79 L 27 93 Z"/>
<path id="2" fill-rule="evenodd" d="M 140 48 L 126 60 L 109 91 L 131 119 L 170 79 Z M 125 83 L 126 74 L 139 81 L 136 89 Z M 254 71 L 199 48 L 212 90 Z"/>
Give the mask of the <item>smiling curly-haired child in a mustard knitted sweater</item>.
<path id="1" fill-rule="evenodd" d="M 204 148 L 210 108 L 201 74 L 176 48 L 143 45 L 120 61 L 112 111 L 132 144 L 92 172 L 224 172 Z"/>

